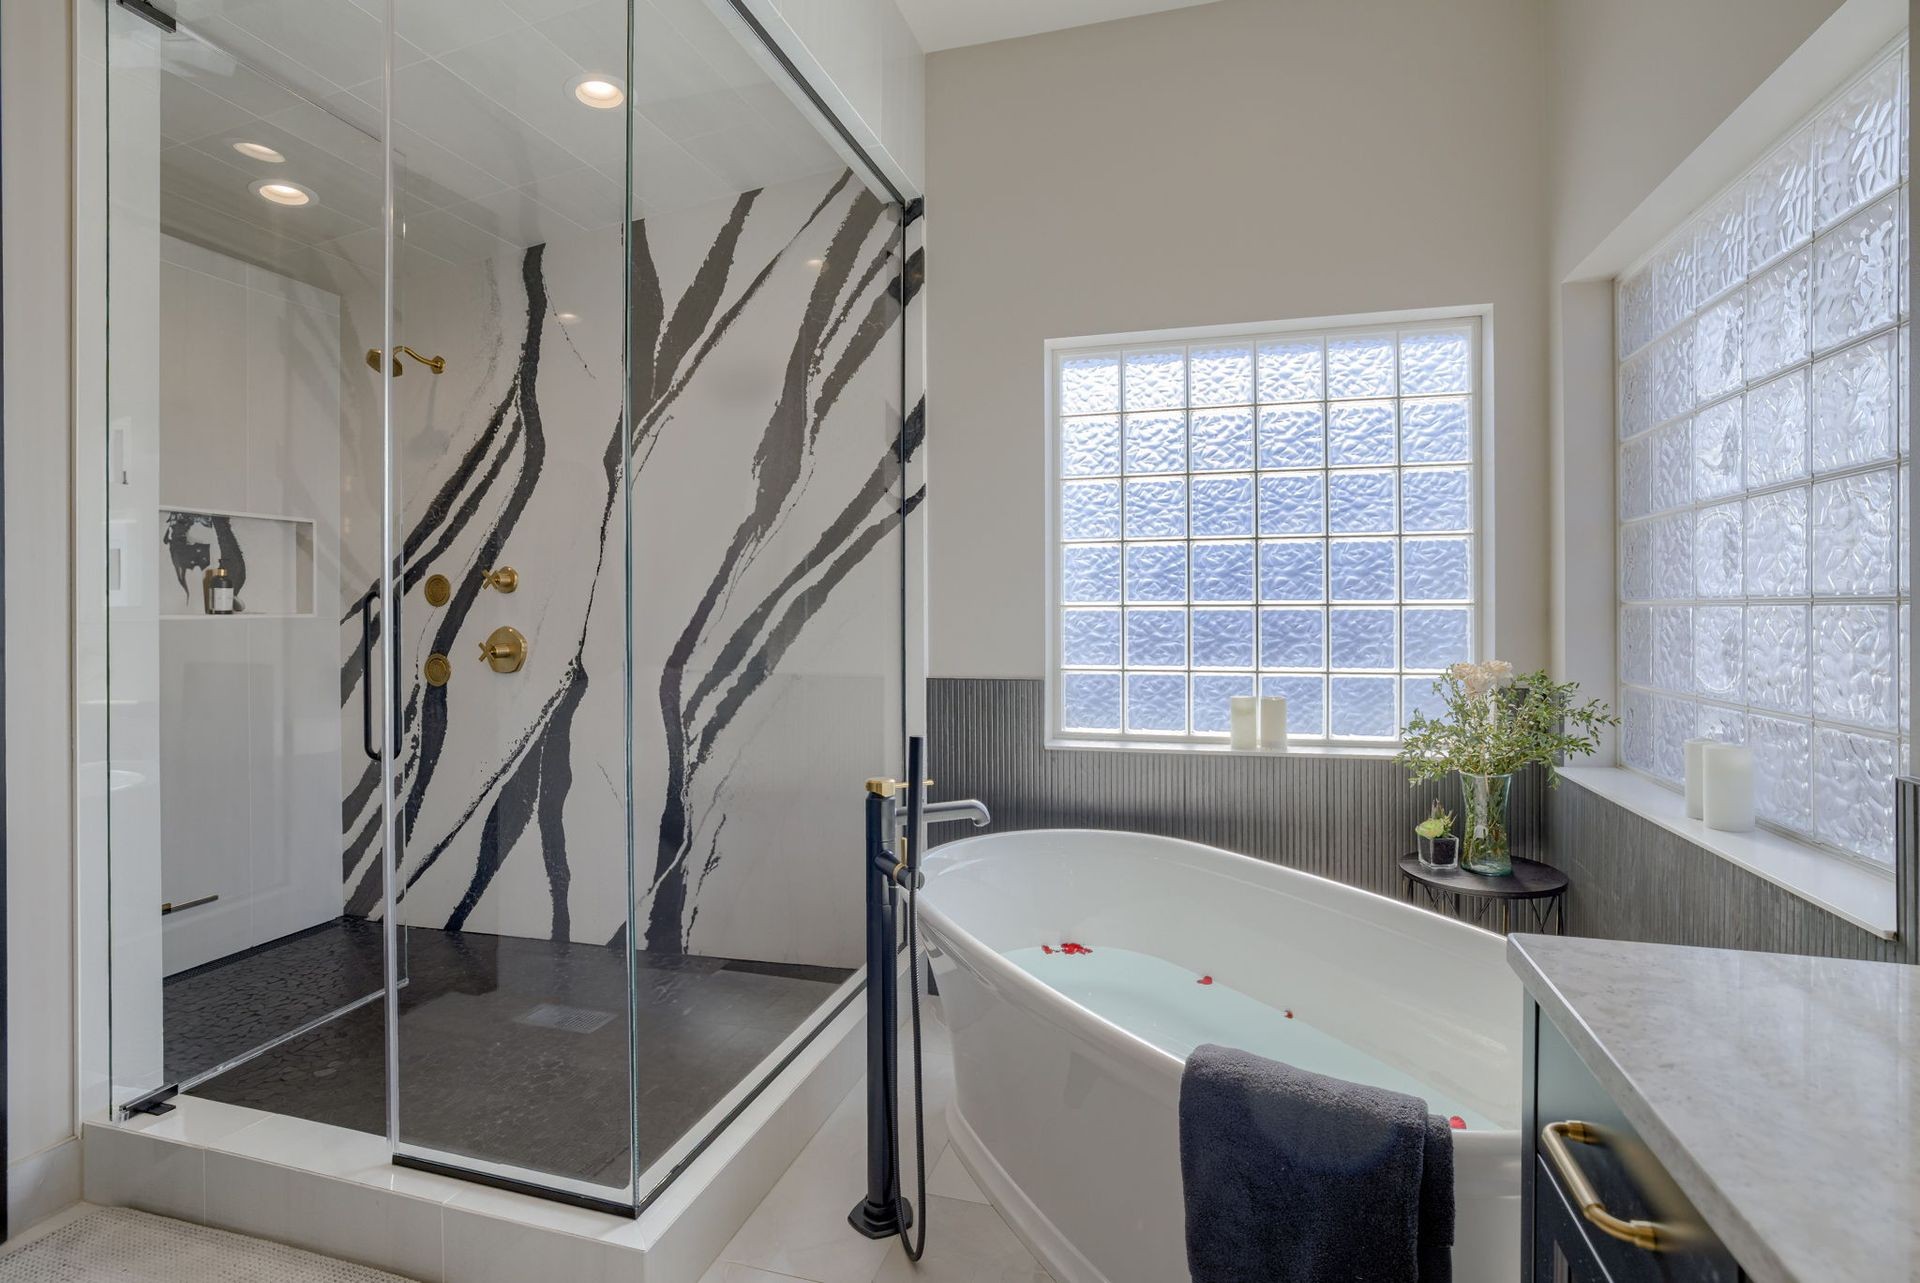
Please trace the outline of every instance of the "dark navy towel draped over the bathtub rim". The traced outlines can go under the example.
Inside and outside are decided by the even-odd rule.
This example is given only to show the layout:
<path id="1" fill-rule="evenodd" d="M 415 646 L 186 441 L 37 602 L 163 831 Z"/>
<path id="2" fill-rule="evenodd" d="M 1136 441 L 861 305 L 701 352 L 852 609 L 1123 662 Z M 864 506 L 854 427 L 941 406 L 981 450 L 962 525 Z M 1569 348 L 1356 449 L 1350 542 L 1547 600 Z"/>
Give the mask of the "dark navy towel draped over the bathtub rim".
<path id="1" fill-rule="evenodd" d="M 1453 1131 L 1419 1097 L 1208 1043 L 1181 1181 L 1194 1283 L 1452 1283 Z"/>

